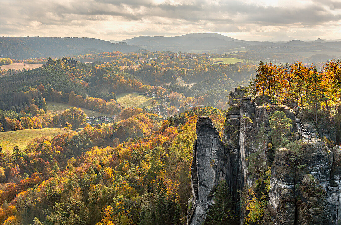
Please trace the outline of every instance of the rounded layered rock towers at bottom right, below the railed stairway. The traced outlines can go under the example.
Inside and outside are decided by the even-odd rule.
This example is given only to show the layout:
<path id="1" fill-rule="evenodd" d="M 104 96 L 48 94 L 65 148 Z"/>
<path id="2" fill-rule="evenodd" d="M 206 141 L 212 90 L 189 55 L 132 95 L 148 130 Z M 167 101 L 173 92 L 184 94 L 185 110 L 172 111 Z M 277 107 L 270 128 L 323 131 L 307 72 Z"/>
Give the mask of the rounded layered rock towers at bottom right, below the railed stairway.
<path id="1" fill-rule="evenodd" d="M 291 149 L 276 151 L 267 207 L 272 224 L 337 224 L 334 218 L 339 208 L 333 200 L 338 197 L 328 198 L 327 191 L 331 189 L 333 153 L 322 141 L 303 143 L 302 148 L 301 164 L 305 168 L 296 170 L 291 160 Z M 341 151 L 339 153 L 341 156 Z M 338 191 L 329 195 L 338 195 Z"/>

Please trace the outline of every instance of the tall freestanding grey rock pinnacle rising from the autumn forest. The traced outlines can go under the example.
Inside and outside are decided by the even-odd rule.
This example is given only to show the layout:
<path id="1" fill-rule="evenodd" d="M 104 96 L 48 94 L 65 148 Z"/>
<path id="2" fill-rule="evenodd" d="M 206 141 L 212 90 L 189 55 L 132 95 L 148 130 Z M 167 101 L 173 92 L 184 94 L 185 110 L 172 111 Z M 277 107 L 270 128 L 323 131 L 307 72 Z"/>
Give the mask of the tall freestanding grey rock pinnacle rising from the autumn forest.
<path id="1" fill-rule="evenodd" d="M 191 225 L 201 225 L 205 221 L 214 187 L 221 179 L 231 180 L 232 175 L 230 157 L 209 117 L 198 118 L 196 134 L 191 167 L 193 198 L 187 216 L 187 223 Z"/>

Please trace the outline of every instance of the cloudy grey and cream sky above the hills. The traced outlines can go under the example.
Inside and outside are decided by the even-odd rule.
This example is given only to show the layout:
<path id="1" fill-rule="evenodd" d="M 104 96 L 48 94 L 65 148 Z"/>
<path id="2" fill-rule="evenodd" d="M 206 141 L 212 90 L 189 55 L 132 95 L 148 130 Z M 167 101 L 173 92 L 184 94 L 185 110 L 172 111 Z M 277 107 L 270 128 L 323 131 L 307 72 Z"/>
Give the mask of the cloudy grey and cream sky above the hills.
<path id="1" fill-rule="evenodd" d="M 0 36 L 341 39 L 341 0 L 0 0 Z"/>

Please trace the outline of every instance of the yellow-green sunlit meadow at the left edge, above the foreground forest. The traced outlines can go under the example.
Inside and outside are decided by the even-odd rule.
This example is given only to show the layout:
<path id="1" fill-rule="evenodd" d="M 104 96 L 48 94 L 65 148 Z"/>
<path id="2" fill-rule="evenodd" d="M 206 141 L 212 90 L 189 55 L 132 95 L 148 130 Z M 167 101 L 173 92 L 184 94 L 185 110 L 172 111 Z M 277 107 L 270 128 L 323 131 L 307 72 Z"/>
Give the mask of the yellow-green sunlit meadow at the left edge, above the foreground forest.
<path id="1" fill-rule="evenodd" d="M 14 146 L 18 146 L 20 149 L 25 149 L 27 143 L 34 138 L 41 138 L 42 136 L 48 136 L 53 138 L 58 134 L 70 133 L 71 130 L 64 128 L 45 128 L 35 130 L 16 130 L 0 132 L 0 146 L 4 152 L 10 152 Z"/>

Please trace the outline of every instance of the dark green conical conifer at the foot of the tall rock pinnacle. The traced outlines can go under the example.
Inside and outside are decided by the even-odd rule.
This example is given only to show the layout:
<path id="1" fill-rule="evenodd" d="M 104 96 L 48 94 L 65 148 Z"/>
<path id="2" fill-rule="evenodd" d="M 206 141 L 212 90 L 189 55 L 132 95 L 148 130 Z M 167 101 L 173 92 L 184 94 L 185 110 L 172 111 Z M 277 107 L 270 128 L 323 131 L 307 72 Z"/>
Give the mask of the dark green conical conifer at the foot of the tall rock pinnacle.
<path id="1" fill-rule="evenodd" d="M 237 214 L 233 211 L 232 195 L 226 180 L 218 183 L 213 201 L 214 204 L 209 208 L 207 216 L 209 225 L 237 224 Z"/>

